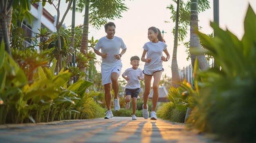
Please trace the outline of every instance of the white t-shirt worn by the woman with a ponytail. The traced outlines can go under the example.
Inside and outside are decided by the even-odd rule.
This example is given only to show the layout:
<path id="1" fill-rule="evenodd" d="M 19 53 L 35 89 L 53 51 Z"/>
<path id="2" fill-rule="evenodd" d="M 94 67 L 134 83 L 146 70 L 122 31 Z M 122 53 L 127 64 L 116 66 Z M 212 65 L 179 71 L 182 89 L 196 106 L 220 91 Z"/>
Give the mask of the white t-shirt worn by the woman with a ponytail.
<path id="1" fill-rule="evenodd" d="M 150 63 L 145 63 L 144 70 L 157 70 L 163 67 L 162 64 L 162 55 L 163 51 L 166 49 L 167 44 L 161 41 L 157 43 L 146 42 L 143 48 L 147 51 L 146 59 L 151 58 L 152 61 Z"/>

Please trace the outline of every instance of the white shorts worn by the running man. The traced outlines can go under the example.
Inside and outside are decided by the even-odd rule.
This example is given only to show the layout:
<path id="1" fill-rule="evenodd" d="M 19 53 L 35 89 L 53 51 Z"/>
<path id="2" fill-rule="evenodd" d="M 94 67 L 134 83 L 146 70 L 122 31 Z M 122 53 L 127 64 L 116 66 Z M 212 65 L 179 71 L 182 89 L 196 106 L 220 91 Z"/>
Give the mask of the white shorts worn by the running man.
<path id="1" fill-rule="evenodd" d="M 113 66 L 105 66 L 105 67 L 103 67 L 101 65 L 102 85 L 112 83 L 111 74 L 115 72 L 115 73 L 118 73 L 118 75 L 120 75 L 121 69 L 122 69 L 122 64 L 117 64 L 117 65 L 113 65 Z"/>

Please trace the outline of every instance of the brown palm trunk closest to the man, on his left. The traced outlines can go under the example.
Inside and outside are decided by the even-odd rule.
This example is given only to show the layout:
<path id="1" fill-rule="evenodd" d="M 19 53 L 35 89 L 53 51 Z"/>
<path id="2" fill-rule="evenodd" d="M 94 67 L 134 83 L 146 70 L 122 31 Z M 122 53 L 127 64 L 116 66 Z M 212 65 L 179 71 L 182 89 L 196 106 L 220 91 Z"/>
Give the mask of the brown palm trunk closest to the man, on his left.
<path id="1" fill-rule="evenodd" d="M 81 48 L 80 52 L 83 53 L 83 55 L 86 56 L 86 53 L 88 53 L 88 29 L 89 29 L 89 2 L 90 0 L 86 0 L 85 2 L 85 15 L 84 15 L 84 21 L 83 21 L 83 35 L 81 39 Z M 81 65 L 82 63 L 79 63 L 79 69 L 84 71 L 88 74 L 88 71 L 86 71 L 86 68 Z M 88 76 L 82 77 L 82 79 L 88 80 Z"/>

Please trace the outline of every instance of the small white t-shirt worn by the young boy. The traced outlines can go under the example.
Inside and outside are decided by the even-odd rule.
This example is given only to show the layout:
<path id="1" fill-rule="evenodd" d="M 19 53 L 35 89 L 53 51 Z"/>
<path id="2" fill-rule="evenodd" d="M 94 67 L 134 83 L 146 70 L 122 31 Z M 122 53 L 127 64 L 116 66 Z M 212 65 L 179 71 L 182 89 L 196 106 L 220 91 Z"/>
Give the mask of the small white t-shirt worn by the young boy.
<path id="1" fill-rule="evenodd" d="M 128 68 L 123 73 L 124 76 L 127 76 L 129 80 L 127 81 L 126 87 L 127 89 L 136 89 L 140 88 L 140 82 L 138 76 L 144 78 L 144 74 L 140 68 L 134 70 L 133 68 Z"/>

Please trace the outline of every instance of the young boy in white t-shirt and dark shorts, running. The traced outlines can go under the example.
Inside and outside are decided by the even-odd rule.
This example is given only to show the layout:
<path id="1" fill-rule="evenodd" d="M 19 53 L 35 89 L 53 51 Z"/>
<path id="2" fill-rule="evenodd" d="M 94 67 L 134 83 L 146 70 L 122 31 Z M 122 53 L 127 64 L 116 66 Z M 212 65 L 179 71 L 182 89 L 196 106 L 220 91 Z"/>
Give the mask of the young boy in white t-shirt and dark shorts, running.
<path id="1" fill-rule="evenodd" d="M 137 120 L 135 116 L 137 98 L 140 93 L 140 82 L 139 80 L 144 80 L 144 74 L 139 67 L 139 57 L 133 56 L 130 58 L 130 64 L 132 68 L 128 68 L 122 74 L 122 77 L 127 81 L 125 87 L 125 102 L 126 108 L 130 108 L 130 101 L 132 98 L 132 120 Z M 126 77 L 125 77 L 126 76 Z"/>

